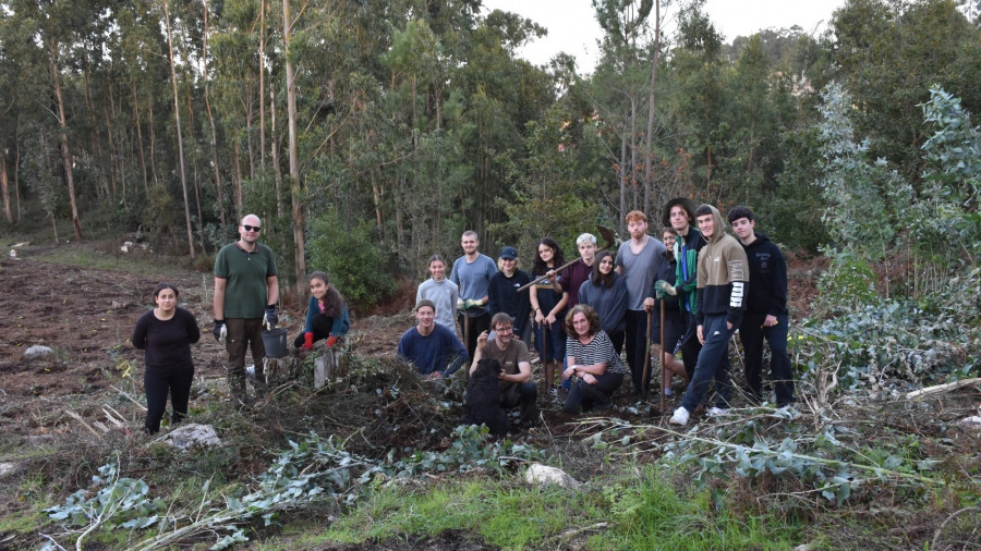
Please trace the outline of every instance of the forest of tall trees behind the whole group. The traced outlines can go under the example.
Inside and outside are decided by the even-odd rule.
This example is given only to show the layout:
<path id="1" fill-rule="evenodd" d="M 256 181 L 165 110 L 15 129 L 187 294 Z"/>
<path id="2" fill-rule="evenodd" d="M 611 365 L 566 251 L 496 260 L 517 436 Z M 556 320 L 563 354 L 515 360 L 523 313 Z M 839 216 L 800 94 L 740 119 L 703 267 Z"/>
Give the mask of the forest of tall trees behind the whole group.
<path id="1" fill-rule="evenodd" d="M 852 0 L 821 36 L 731 44 L 699 0 L 593 4 L 583 76 L 518 59 L 544 29 L 479 0 L 2 0 L 0 228 L 208 269 L 255 212 L 287 284 L 326 269 L 361 305 L 464 230 L 529 266 L 675 196 L 751 206 L 846 302 L 974 266 L 978 1 Z"/>

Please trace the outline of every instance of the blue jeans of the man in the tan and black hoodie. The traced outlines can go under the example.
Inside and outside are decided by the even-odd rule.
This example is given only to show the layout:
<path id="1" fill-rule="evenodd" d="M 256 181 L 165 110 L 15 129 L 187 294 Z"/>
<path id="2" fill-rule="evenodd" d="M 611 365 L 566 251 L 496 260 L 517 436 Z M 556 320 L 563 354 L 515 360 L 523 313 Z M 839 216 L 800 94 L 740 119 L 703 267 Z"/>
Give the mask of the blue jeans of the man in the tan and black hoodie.
<path id="1" fill-rule="evenodd" d="M 715 407 L 729 407 L 729 397 L 732 393 L 729 382 L 729 338 L 732 336 L 736 328 L 728 329 L 726 327 L 725 314 L 705 316 L 702 323 L 705 344 L 702 345 L 691 383 L 681 400 L 681 405 L 689 413 L 694 412 L 705 400 L 705 395 L 708 393 L 708 383 L 713 379 L 715 380 Z"/>

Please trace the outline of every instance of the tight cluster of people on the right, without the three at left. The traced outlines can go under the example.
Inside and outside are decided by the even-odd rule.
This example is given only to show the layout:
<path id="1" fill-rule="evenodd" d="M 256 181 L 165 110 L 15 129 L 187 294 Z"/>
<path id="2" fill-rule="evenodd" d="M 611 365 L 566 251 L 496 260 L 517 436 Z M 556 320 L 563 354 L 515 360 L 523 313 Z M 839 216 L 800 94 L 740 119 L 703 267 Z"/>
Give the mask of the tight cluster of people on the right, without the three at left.
<path id="1" fill-rule="evenodd" d="M 707 413 L 727 413 L 728 343 L 739 330 L 750 397 L 763 400 L 766 340 L 777 406 L 789 406 L 787 272 L 779 248 L 755 232 L 747 207 L 728 212 L 736 237 L 711 205 L 694 208 L 679 197 L 662 215 L 661 240 L 647 233 L 647 217 L 632 211 L 626 217 L 630 238 L 616 253 L 597 249 L 596 237 L 584 233 L 577 240 L 580 258 L 568 266 L 561 246 L 544 237 L 530 274 L 519 268 L 514 247 L 504 247 L 495 266 L 480 253 L 476 233 L 464 232 L 463 255 L 449 277 L 441 256 L 429 259 L 432 278 L 416 294 L 417 325 L 402 336 L 398 354 L 428 378 L 448 377 L 468 359 L 472 372 L 483 358 L 507 358 L 499 376 L 501 405 L 520 405 L 530 423 L 526 415 L 536 411 L 529 404 L 538 392 L 528 356 L 532 334 L 543 391 L 568 389 L 568 413 L 609 407 L 628 375 L 634 394 L 646 394 L 649 374 L 659 367 L 649 363 L 650 342 L 654 357 L 663 358 L 661 392 L 671 395 L 673 381 L 680 379 L 685 394 L 670 423 L 683 426 L 713 383 Z"/>

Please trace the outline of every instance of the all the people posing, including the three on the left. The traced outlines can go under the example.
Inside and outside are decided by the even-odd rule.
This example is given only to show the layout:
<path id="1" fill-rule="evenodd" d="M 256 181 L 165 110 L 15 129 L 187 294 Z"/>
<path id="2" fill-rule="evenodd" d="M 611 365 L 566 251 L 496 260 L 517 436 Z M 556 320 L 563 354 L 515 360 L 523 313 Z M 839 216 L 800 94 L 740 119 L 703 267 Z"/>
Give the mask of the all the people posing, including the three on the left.
<path id="1" fill-rule="evenodd" d="M 779 248 L 755 232 L 753 212 L 747 207 L 728 212 L 736 237 L 726 233 L 715 207 L 695 209 L 686 198 L 668 201 L 663 221 L 657 240 L 647 233 L 643 212 L 628 213 L 630 238 L 615 254 L 597 249 L 596 237 L 583 233 L 577 240 L 580 258 L 569 266 L 561 246 L 544 237 L 531 273 L 520 269 L 514 247 L 504 247 L 495 262 L 480 253 L 477 234 L 464 232 L 463 255 L 449 277 L 440 255 L 429 258 L 431 278 L 416 293 L 416 325 L 400 339 L 398 355 L 428 379 L 449 377 L 468 360 L 472 372 L 481 359 L 497 359 L 502 368 L 501 405 L 520 406 L 522 423 L 533 424 L 538 389 L 532 381 L 528 346 L 532 335 L 544 390 L 557 394 L 556 384 L 567 388 L 568 413 L 610 407 L 614 391 L 628 374 L 633 392 L 645 394 L 650 385 L 645 367 L 653 367 L 646 365 L 650 342 L 655 357 L 663 352 L 661 391 L 670 394 L 676 376 L 686 389 L 669 420 L 683 426 L 713 382 L 715 402 L 708 415 L 727 412 L 728 342 L 738 329 L 750 397 L 763 400 L 766 340 L 777 406 L 792 404 L 787 272 Z M 231 396 L 243 404 L 246 352 L 252 352 L 256 394 L 262 395 L 266 356 L 262 331 L 278 322 L 276 260 L 272 250 L 258 242 L 261 231 L 258 217 L 244 217 L 239 240 L 222 247 L 215 259 L 213 334 L 228 353 Z M 330 348 L 350 329 L 347 305 L 326 273 L 311 273 L 308 285 L 306 319 L 294 346 L 312 350 L 324 341 Z M 160 428 L 168 395 L 171 421 L 186 416 L 194 376 L 191 344 L 201 339 L 194 316 L 177 306 L 179 291 L 173 284 L 160 283 L 153 297 L 154 309 L 140 317 L 131 339 L 145 350 L 144 428 L 150 433 Z"/>

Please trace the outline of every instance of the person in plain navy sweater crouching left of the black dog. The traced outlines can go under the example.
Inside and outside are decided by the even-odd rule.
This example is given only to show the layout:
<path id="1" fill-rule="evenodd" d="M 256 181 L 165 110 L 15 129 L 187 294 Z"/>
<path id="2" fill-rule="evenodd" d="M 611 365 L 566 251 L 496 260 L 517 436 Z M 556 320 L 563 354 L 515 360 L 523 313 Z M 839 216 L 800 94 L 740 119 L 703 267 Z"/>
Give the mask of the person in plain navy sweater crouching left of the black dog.
<path id="1" fill-rule="evenodd" d="M 449 329 L 436 323 L 436 305 L 423 298 L 415 305 L 416 326 L 399 339 L 397 354 L 426 379 L 449 377 L 470 357 Z"/>

